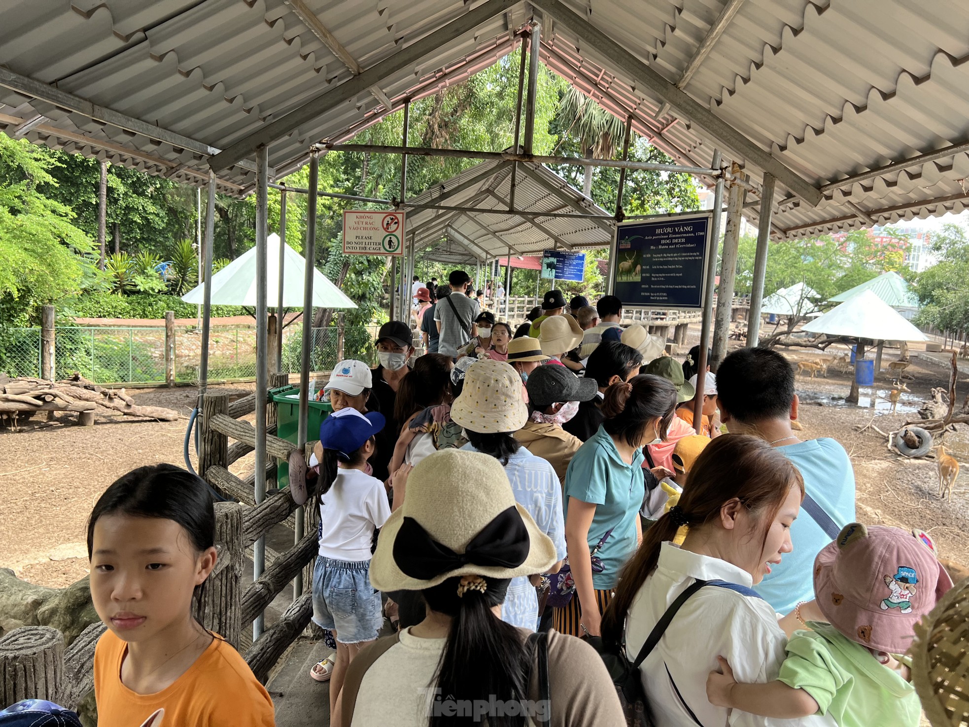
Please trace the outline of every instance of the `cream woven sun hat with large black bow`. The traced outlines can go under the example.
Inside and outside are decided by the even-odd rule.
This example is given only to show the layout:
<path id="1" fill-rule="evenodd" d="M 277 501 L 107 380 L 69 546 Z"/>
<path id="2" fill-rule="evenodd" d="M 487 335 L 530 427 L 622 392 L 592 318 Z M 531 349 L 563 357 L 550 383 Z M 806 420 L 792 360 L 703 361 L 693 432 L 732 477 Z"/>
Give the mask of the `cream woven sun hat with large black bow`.
<path id="1" fill-rule="evenodd" d="M 454 576 L 511 579 L 544 573 L 557 557 L 497 459 L 446 449 L 411 472 L 404 503 L 381 528 L 370 582 L 392 591 Z"/>

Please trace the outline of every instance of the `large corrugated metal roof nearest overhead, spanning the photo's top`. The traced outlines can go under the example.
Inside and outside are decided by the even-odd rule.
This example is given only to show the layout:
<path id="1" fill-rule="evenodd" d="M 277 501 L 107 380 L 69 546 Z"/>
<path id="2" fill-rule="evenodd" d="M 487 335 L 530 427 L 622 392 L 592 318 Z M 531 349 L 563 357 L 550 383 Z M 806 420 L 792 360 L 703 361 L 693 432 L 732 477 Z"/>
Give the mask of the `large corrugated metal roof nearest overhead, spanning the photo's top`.
<path id="1" fill-rule="evenodd" d="M 564 2 L 671 82 L 726 4 Z M 480 6 L 462 0 L 306 4 L 364 69 Z M 381 80 L 391 108 L 466 79 L 512 50 L 516 29 L 530 19 L 528 7 L 518 3 Z M 674 159 L 705 166 L 713 147 L 723 146 L 690 119 L 666 112 L 661 99 L 586 39 L 554 18 L 542 19 L 547 65 L 620 117 L 632 112 L 636 130 Z M 746 0 L 684 90 L 821 187 L 969 140 L 967 60 L 964 0 Z M 284 0 L 11 0 L 0 7 L 0 64 L 218 148 L 352 78 Z M 363 91 L 272 143 L 270 166 L 288 172 L 311 143 L 348 139 L 387 112 Z M 197 150 L 0 88 L 0 129 L 12 131 L 39 114 L 46 118 L 26 132 L 31 141 L 190 183 L 207 175 L 206 155 Z M 761 179 L 750 164 L 746 172 L 755 183 Z M 799 237 L 865 226 L 852 205 L 879 224 L 958 212 L 969 204 L 966 177 L 969 155 L 960 151 L 828 189 L 817 207 L 788 195 L 778 205 L 774 231 Z M 241 194 L 251 189 L 253 175 L 235 165 L 220 179 L 224 191 Z M 756 204 L 745 213 L 756 219 Z M 521 243 L 543 244 L 537 236 Z"/>

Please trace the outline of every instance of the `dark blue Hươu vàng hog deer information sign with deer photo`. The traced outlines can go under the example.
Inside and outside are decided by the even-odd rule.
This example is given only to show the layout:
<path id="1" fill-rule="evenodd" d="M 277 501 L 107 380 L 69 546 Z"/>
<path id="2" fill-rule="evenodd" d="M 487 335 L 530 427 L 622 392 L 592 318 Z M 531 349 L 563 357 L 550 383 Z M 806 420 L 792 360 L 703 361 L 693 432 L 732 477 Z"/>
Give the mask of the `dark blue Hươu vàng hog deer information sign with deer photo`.
<path id="1" fill-rule="evenodd" d="M 627 306 L 702 308 L 711 219 L 700 212 L 617 225 L 613 295 Z"/>

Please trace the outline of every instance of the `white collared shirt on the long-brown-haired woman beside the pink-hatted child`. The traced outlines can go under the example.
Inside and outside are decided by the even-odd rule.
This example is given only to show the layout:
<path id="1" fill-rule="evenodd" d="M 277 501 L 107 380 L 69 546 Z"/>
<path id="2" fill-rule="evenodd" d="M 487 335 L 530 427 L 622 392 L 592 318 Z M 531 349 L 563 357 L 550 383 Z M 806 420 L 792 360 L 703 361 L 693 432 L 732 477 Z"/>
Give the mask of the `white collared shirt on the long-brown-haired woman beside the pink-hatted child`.
<path id="1" fill-rule="evenodd" d="M 749 573 L 726 560 L 664 543 L 659 565 L 629 610 L 626 648 L 630 659 L 639 653 L 676 596 L 695 580 L 726 581 L 747 588 L 753 585 Z M 764 599 L 714 585 L 701 588 L 673 616 L 660 643 L 640 667 L 656 723 L 696 727 L 697 722 L 680 702 L 681 696 L 703 727 L 833 727 L 829 716 L 772 719 L 714 707 L 707 701 L 706 677 L 718 668 L 718 655 L 730 662 L 737 681 L 764 683 L 777 679 L 786 644 L 777 614 Z"/>

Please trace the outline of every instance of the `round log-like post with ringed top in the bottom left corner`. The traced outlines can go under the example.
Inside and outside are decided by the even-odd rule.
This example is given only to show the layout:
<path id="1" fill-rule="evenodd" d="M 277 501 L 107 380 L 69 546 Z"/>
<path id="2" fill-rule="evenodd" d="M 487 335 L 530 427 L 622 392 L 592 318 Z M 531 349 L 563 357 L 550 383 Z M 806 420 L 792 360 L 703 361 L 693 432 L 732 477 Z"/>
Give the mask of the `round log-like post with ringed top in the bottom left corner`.
<path id="1" fill-rule="evenodd" d="M 0 705 L 57 702 L 63 676 L 64 636 L 57 629 L 21 626 L 0 639 Z"/>

